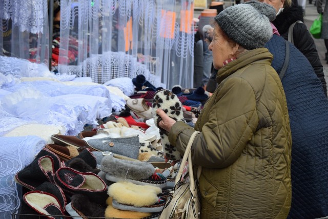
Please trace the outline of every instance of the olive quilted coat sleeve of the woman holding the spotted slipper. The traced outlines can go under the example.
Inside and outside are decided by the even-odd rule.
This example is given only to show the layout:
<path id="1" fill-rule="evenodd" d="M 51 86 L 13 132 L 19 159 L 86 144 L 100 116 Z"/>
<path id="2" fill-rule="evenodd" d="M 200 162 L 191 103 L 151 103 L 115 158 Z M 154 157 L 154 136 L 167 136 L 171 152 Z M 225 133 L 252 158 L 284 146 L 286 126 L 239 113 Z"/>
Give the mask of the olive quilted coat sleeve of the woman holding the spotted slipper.
<path id="1" fill-rule="evenodd" d="M 228 167 L 241 155 L 257 128 L 255 94 L 244 79 L 232 77 L 222 85 L 215 104 L 209 107 L 208 122 L 192 145 L 193 162 L 207 168 Z M 169 133 L 170 143 L 183 154 L 194 131 L 178 122 Z"/>

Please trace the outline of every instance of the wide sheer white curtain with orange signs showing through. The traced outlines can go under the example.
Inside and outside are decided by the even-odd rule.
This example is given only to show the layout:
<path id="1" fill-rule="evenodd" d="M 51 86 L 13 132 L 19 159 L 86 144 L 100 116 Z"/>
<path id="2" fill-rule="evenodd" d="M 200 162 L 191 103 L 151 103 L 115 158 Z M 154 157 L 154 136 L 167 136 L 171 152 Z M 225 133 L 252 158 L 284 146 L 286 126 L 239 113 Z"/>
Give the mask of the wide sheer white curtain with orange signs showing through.
<path id="1" fill-rule="evenodd" d="M 58 70 L 192 87 L 192 18 L 193 0 L 61 0 Z"/>

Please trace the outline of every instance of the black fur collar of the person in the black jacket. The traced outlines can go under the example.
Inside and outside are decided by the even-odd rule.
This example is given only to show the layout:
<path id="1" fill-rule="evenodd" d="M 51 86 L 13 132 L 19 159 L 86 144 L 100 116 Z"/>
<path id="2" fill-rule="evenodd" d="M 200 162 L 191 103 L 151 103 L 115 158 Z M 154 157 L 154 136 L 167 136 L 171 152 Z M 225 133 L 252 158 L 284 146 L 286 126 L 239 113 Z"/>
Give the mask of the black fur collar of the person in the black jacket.
<path id="1" fill-rule="evenodd" d="M 282 35 L 297 21 L 304 22 L 303 8 L 299 5 L 292 5 L 290 8 L 285 8 L 281 14 L 276 16 L 276 19 L 272 23 L 276 26 L 280 35 Z"/>

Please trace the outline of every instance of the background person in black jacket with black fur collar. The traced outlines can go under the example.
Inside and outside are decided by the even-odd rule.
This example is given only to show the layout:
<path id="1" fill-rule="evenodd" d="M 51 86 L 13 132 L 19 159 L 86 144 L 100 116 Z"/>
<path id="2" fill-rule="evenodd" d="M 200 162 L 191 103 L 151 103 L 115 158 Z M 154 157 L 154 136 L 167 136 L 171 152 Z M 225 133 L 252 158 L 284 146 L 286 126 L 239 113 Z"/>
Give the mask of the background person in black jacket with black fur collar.
<path id="1" fill-rule="evenodd" d="M 297 21 L 303 22 L 302 6 L 294 5 L 291 0 L 260 0 L 260 2 L 272 5 L 276 9 L 277 16 L 272 23 L 286 40 L 288 39 L 289 27 Z M 323 67 L 314 40 L 305 24 L 297 23 L 294 26 L 293 37 L 295 47 L 308 58 L 321 81 L 324 94 L 327 97 L 327 84 L 324 79 Z"/>

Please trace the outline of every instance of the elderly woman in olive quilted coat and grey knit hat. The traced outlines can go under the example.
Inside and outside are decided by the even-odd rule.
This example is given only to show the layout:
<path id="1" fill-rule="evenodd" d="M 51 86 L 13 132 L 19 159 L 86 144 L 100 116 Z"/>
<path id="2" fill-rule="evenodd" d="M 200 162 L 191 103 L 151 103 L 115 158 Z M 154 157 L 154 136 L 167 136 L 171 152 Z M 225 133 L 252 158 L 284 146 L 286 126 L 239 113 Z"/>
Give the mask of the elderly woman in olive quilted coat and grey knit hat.
<path id="1" fill-rule="evenodd" d="M 263 4 L 275 15 L 273 7 Z M 291 131 L 285 94 L 272 54 L 269 18 L 251 5 L 215 17 L 213 51 L 218 88 L 195 129 L 161 109 L 159 126 L 180 154 L 191 134 L 199 179 L 201 218 L 286 218 L 291 205 Z"/>

